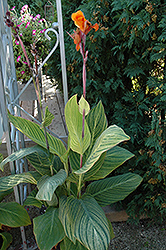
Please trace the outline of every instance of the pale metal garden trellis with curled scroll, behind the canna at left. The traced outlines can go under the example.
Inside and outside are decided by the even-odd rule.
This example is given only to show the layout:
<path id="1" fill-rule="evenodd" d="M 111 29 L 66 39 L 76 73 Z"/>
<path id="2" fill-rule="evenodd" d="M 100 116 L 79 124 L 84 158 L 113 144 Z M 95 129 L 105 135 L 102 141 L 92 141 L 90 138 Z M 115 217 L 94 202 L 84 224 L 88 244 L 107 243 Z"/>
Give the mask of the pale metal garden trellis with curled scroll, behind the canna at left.
<path id="1" fill-rule="evenodd" d="M 63 37 L 63 22 L 62 22 L 62 10 L 61 10 L 61 0 L 56 0 L 57 7 L 57 18 L 58 22 L 53 23 L 52 28 L 49 28 L 45 32 L 45 36 L 48 40 L 51 38 L 48 36 L 48 32 L 52 31 L 56 35 L 56 43 L 49 55 L 45 58 L 39 69 L 45 64 L 49 57 L 53 54 L 55 49 L 60 42 L 60 54 L 61 54 L 61 67 L 62 67 L 62 80 L 63 80 L 63 92 L 64 92 L 64 102 L 66 104 L 68 100 L 68 90 L 67 90 L 67 77 L 66 77 L 66 63 L 65 63 L 65 49 L 64 49 L 64 37 Z M 3 136 L 6 138 L 7 153 L 10 155 L 13 151 L 19 150 L 25 147 L 24 136 L 19 133 L 12 125 L 9 127 L 9 122 L 7 118 L 7 109 L 13 114 L 20 116 L 20 111 L 26 112 L 19 106 L 19 98 L 26 91 L 27 87 L 31 83 L 30 79 L 25 87 L 18 93 L 18 85 L 15 72 L 15 62 L 13 55 L 13 46 L 11 38 L 11 30 L 4 23 L 4 16 L 8 10 L 7 0 L 0 0 L 0 139 Z M 58 28 L 58 32 L 56 31 Z M 31 119 L 37 121 L 31 114 L 28 114 Z M 51 131 L 50 131 L 51 132 Z M 52 133 L 53 134 L 53 133 Z M 54 134 L 54 136 L 56 136 Z M 26 160 L 19 160 L 10 163 L 10 171 L 14 173 L 22 173 L 23 166 L 25 171 L 28 170 L 28 164 Z M 26 196 L 26 185 L 19 185 L 14 188 L 15 199 L 18 203 L 23 204 L 23 200 Z M 23 247 L 27 249 L 26 237 L 24 227 L 21 227 L 21 236 L 23 240 Z"/>

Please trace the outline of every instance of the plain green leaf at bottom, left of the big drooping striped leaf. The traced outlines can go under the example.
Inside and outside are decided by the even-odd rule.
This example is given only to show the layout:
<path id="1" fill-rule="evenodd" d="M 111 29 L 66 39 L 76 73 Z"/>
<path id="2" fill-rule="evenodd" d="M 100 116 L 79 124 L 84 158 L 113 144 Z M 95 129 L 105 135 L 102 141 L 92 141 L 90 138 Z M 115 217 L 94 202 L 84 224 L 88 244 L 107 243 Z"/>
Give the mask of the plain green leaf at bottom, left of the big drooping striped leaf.
<path id="1" fill-rule="evenodd" d="M 45 214 L 34 218 L 34 234 L 40 250 L 51 250 L 65 237 L 58 214 L 57 208 L 51 208 Z"/>

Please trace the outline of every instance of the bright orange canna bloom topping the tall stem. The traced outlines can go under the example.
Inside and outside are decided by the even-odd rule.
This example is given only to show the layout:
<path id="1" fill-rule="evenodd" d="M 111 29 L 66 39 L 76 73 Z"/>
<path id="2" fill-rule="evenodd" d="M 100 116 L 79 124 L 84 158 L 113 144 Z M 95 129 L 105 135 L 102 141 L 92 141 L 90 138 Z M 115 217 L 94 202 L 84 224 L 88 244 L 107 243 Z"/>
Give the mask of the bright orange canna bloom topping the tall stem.
<path id="1" fill-rule="evenodd" d="M 95 23 L 92 25 L 88 20 L 85 19 L 84 14 L 81 10 L 78 10 L 76 13 L 71 15 L 74 24 L 85 34 L 87 35 L 91 29 L 95 29 L 97 31 L 99 29 L 99 25 Z"/>

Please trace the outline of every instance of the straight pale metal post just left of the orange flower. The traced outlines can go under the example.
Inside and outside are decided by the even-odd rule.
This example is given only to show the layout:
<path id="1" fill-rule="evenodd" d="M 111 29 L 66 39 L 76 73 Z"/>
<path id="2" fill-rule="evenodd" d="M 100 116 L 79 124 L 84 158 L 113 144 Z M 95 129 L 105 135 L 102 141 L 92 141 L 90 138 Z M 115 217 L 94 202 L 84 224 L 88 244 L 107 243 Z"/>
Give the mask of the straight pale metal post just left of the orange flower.
<path id="1" fill-rule="evenodd" d="M 63 94 L 64 103 L 68 101 L 68 88 L 67 88 L 67 74 L 66 74 L 66 59 L 65 59 L 65 45 L 63 35 L 63 20 L 62 20 L 62 6 L 61 0 L 56 0 L 57 17 L 59 24 L 59 39 L 60 39 L 60 55 L 61 55 L 61 67 L 62 67 L 62 81 L 63 81 Z"/>

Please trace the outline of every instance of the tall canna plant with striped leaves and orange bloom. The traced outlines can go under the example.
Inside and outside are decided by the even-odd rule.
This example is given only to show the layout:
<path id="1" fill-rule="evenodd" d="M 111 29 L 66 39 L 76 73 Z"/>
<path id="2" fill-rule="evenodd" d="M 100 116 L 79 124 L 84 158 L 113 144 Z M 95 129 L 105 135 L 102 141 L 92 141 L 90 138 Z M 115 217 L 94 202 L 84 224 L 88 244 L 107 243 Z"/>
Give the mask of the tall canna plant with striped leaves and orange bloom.
<path id="1" fill-rule="evenodd" d="M 39 249 L 106 250 L 114 237 L 113 229 L 102 207 L 123 200 L 141 183 L 137 174 L 110 176 L 110 173 L 133 157 L 118 144 L 129 136 L 116 125 L 108 127 L 101 101 L 93 109 L 86 100 L 86 36 L 98 30 L 79 10 L 72 14 L 77 26 L 72 39 L 83 58 L 83 95 L 70 98 L 65 107 L 69 131 L 67 148 L 63 142 L 45 134 L 52 114 L 45 111 L 42 126 L 12 116 L 11 123 L 36 146 L 24 148 L 4 159 L 0 165 L 26 157 L 35 171 L 10 175 L 0 179 L 0 191 L 20 183 L 32 183 L 36 188 L 24 205 L 45 207 L 46 212 L 33 220 L 33 230 Z M 107 178 L 106 178 L 107 177 Z"/>

